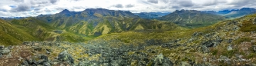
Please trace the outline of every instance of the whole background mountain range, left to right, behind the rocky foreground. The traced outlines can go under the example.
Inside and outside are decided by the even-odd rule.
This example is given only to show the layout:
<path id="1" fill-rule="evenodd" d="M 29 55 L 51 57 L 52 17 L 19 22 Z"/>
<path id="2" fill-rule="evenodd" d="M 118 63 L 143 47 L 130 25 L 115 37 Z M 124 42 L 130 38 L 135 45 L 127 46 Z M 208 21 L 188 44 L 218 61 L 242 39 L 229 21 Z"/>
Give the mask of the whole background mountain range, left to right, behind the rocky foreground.
<path id="1" fill-rule="evenodd" d="M 251 11 L 248 11 L 251 10 Z M 234 12 L 233 10 L 232 12 Z M 239 11 L 239 12 L 238 12 Z M 254 8 L 242 8 L 235 12 L 240 15 L 253 12 Z M 224 12 L 224 11 L 223 11 Z M 222 14 L 224 14 L 222 12 Z M 228 14 L 230 12 L 226 11 Z M 219 12 L 221 14 L 221 12 Z M 157 15 L 156 17 L 144 17 L 146 15 Z M 152 19 L 155 18 L 155 19 Z M 221 15 L 200 12 L 196 10 L 180 10 L 170 14 L 151 12 L 137 13 L 127 11 L 114 11 L 104 8 L 89 8 L 83 12 L 70 12 L 64 9 L 55 15 L 39 15 L 31 18 L 5 18 L 2 24 L 10 25 L 14 31 L 9 31 L 19 34 L 15 31 L 21 31 L 22 35 L 29 35 L 29 38 L 18 38 L 19 35 L 6 32 L 8 29 L 3 27 L 17 43 L 22 41 L 86 41 L 96 36 L 111 34 L 122 31 L 144 31 L 144 30 L 180 30 L 187 28 L 197 28 L 201 26 L 213 25 L 218 21 L 223 21 L 226 18 Z M 180 27 L 183 26 L 183 27 Z M 185 28 L 184 28 L 185 27 Z M 76 35 L 76 36 L 73 36 Z M 7 38 L 7 37 L 6 37 Z M 14 39 L 15 38 L 15 39 Z M 80 40 L 77 40 L 77 39 Z M 76 39 L 76 40 L 73 40 Z M 4 39 L 2 39 L 4 41 Z M 8 42 L 10 42 L 8 41 Z M 8 42 L 2 42 L 7 45 Z M 17 44 L 12 43 L 12 44 Z"/>

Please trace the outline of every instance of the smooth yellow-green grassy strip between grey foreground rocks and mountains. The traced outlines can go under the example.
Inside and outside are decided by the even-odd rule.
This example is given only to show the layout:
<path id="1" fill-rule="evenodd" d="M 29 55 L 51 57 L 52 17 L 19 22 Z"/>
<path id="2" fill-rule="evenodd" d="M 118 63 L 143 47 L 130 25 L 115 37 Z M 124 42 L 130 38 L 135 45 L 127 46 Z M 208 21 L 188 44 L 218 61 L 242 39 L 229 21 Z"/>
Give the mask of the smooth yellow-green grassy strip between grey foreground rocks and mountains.
<path id="1" fill-rule="evenodd" d="M 106 40 L 117 39 L 123 41 L 125 43 L 133 43 L 136 41 L 140 41 L 139 43 L 143 43 L 145 40 L 161 40 L 163 42 L 176 40 L 177 38 L 190 38 L 194 32 L 202 32 L 203 34 L 207 34 L 210 32 L 214 32 L 215 28 L 221 26 L 222 23 L 217 23 L 211 26 L 202 27 L 202 28 L 181 28 L 181 29 L 173 29 L 173 30 L 148 30 L 148 31 L 124 31 L 121 33 L 111 33 L 109 35 L 101 35 L 99 38 L 104 38 Z M 199 43 L 200 41 L 194 41 L 194 43 Z M 137 44 L 137 43 L 136 43 Z"/>

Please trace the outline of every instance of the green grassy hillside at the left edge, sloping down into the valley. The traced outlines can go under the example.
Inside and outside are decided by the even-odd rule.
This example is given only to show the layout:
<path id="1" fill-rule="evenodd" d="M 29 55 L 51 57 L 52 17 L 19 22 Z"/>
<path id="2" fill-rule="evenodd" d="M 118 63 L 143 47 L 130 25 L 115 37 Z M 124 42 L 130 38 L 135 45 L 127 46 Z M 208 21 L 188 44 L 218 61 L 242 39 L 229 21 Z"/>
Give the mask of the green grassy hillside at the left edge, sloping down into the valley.
<path id="1" fill-rule="evenodd" d="M 59 34 L 54 31 L 62 30 L 61 28 L 53 28 L 35 18 L 10 22 L 0 20 L 0 26 L 1 45 L 19 45 L 22 44 L 22 41 L 56 41 L 56 38 L 58 41 L 84 42 L 96 38 L 95 36 L 79 35 L 68 31 Z"/>

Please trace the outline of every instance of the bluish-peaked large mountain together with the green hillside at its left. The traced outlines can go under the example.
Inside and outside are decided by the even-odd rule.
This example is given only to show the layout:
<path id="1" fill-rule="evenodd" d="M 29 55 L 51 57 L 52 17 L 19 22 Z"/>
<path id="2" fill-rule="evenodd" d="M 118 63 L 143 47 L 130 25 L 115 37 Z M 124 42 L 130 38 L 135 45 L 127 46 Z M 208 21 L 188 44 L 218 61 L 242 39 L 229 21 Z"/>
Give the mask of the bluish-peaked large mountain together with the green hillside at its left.
<path id="1" fill-rule="evenodd" d="M 2 39 L 3 45 L 8 45 L 8 42 L 15 42 L 12 44 L 17 45 L 22 41 L 32 40 L 83 42 L 113 32 L 185 29 L 172 22 L 144 19 L 131 12 L 103 8 L 89 8 L 83 12 L 69 12 L 65 9 L 55 15 L 2 20 L 2 23 L 4 23 L 2 25 L 10 25 L 8 27 L 11 27 L 8 29 L 3 27 L 2 31 L 7 33 L 3 35 L 16 34 L 12 35 L 15 39 L 6 37 L 9 39 L 6 42 L 5 39 Z M 13 31 L 9 31 L 10 29 Z M 19 35 L 29 36 L 19 37 Z"/>

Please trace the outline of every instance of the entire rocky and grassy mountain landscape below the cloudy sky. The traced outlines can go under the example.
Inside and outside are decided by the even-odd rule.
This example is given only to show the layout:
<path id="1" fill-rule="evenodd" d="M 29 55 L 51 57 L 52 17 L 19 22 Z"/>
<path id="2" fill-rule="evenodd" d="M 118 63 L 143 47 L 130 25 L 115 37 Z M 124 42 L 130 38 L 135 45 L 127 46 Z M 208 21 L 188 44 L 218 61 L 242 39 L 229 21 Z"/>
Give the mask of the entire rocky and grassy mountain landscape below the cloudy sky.
<path id="1" fill-rule="evenodd" d="M 140 17 L 89 8 L 0 19 L 0 66 L 256 65 L 256 14 L 226 19 L 177 10 Z"/>

